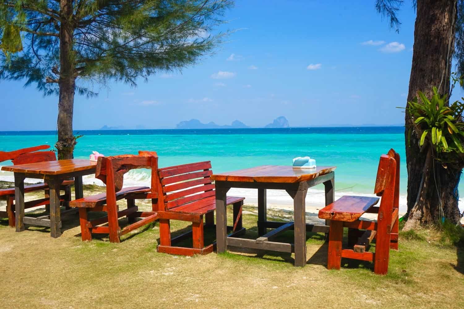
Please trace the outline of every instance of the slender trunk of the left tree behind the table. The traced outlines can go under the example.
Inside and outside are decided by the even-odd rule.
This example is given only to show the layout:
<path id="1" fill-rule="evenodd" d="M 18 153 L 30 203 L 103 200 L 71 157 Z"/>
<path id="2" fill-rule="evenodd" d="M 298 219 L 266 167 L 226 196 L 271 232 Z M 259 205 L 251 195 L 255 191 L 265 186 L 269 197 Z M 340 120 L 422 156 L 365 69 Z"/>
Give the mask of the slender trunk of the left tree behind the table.
<path id="1" fill-rule="evenodd" d="M 58 159 L 72 159 L 76 139 L 72 132 L 74 90 L 76 77 L 73 55 L 74 26 L 72 21 L 72 0 L 60 1 L 60 13 L 66 16 L 60 25 L 60 69 L 58 101 Z"/>

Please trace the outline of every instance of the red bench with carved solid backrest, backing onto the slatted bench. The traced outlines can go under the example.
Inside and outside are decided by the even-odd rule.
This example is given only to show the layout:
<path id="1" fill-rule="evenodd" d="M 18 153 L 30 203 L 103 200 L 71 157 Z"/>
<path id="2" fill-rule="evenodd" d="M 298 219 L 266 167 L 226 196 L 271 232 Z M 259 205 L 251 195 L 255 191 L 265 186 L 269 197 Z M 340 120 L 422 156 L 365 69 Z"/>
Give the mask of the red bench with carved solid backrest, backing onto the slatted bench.
<path id="1" fill-rule="evenodd" d="M 92 233 L 110 235 L 110 242 L 120 242 L 121 236 L 158 219 L 158 194 L 151 188 L 157 187 L 156 170 L 158 157 L 156 152 L 139 151 L 139 155 L 121 155 L 98 158 L 95 177 L 106 184 L 106 193 L 87 196 L 70 202 L 71 207 L 79 209 L 79 221 L 82 240 L 92 240 Z M 124 174 L 133 169 L 151 169 L 151 188 L 129 187 L 122 189 Z M 126 199 L 127 208 L 119 210 L 116 201 Z M 136 199 L 151 199 L 152 211 L 138 211 Z M 105 211 L 106 216 L 88 220 L 88 212 Z M 123 229 L 119 218 L 127 217 L 129 225 Z M 141 218 L 136 221 L 136 218 Z M 108 223 L 108 226 L 102 226 Z"/>

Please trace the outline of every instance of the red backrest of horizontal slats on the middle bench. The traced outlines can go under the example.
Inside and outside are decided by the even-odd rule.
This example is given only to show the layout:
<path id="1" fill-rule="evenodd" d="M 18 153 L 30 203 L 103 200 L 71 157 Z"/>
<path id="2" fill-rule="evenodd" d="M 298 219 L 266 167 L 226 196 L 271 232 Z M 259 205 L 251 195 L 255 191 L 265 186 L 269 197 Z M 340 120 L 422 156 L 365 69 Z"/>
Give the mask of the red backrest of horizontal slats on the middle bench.
<path id="1" fill-rule="evenodd" d="M 182 164 L 158 169 L 158 208 L 168 210 L 213 196 L 211 161 Z"/>

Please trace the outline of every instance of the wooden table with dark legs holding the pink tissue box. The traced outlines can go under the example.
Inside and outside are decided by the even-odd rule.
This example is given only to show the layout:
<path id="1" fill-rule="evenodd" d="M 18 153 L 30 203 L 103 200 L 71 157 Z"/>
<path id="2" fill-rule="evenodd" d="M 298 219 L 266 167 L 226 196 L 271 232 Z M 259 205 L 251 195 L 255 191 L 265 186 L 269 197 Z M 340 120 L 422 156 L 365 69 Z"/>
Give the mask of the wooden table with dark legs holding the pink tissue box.
<path id="1" fill-rule="evenodd" d="M 74 178 L 76 199 L 84 197 L 82 176 L 95 173 L 97 162 L 85 159 L 58 160 L 30 164 L 3 166 L 1 169 L 14 173 L 14 199 L 16 232 L 25 230 L 24 224 L 50 227 L 50 236 L 61 235 L 60 185 Z M 50 219 L 32 218 L 24 215 L 24 179 L 43 179 L 50 189 Z"/>

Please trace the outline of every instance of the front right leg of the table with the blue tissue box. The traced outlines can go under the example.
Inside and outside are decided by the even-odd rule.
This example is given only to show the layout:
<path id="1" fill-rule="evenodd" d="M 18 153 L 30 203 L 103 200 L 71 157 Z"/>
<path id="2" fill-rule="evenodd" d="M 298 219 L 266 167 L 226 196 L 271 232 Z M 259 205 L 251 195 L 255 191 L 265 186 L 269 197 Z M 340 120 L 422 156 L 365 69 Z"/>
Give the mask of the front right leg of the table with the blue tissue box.
<path id="1" fill-rule="evenodd" d="M 308 189 L 287 190 L 293 198 L 295 220 L 295 266 L 306 265 L 306 204 Z"/>

